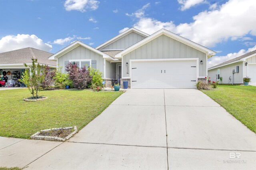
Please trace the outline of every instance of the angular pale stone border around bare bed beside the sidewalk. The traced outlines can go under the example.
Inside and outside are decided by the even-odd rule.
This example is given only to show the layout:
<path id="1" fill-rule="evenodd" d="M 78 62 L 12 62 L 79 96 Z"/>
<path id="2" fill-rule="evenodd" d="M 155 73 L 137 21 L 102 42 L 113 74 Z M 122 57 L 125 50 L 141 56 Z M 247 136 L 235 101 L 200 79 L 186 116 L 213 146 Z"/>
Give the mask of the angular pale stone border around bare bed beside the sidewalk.
<path id="1" fill-rule="evenodd" d="M 41 136 L 39 135 L 40 132 L 45 132 L 45 131 L 52 131 L 52 130 L 59 130 L 59 129 L 73 129 L 74 131 L 72 133 L 70 133 L 67 137 L 65 138 L 61 138 L 61 137 L 52 137 L 52 136 Z M 76 134 L 77 131 L 77 127 L 76 126 L 71 126 L 71 127 L 64 127 L 64 128 L 52 128 L 52 129 L 44 129 L 41 130 L 40 132 L 36 132 L 34 135 L 30 136 L 31 139 L 36 139 L 36 140 L 45 140 L 45 141 L 66 141 L 69 138 L 71 138 L 74 134 Z"/>

